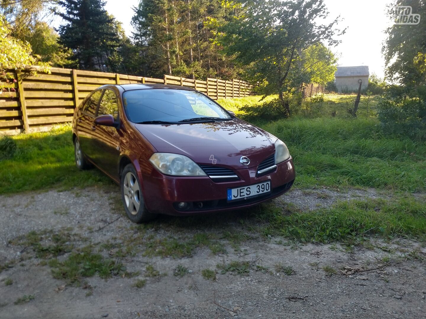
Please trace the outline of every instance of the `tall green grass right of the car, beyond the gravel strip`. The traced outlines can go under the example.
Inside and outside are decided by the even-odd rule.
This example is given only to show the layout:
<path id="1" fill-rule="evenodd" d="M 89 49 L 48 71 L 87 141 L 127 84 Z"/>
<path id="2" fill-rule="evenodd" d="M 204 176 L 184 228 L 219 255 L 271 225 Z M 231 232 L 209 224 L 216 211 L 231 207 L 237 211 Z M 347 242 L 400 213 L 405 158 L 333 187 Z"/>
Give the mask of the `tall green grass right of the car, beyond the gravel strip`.
<path id="1" fill-rule="evenodd" d="M 426 144 L 385 136 L 376 120 L 293 118 L 262 126 L 287 144 L 299 186 L 426 188 Z"/>

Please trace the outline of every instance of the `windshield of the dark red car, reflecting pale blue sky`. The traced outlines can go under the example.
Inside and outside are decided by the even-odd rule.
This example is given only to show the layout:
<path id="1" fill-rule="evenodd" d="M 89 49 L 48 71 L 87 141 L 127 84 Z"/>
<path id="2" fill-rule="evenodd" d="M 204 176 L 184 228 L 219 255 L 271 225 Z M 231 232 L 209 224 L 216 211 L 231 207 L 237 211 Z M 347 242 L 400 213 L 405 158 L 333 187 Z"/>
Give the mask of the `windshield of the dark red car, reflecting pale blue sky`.
<path id="1" fill-rule="evenodd" d="M 134 122 L 196 122 L 232 117 L 219 105 L 195 91 L 179 89 L 142 89 L 124 92 L 124 111 Z M 190 120 L 193 119 L 193 120 Z M 186 121 L 185 121 L 186 120 Z"/>

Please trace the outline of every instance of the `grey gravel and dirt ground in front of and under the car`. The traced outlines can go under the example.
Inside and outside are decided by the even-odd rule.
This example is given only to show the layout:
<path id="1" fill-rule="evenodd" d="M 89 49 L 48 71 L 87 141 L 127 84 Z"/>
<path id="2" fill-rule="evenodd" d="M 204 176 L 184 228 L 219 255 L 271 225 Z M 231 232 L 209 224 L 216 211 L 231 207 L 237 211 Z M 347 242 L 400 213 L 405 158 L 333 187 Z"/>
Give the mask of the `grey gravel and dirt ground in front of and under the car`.
<path id="1" fill-rule="evenodd" d="M 386 196 L 374 190 L 294 189 L 274 202 L 307 210 L 337 199 Z M 424 256 L 426 248 L 408 239 L 371 239 L 368 248 L 352 251 L 302 245 L 259 234 L 253 214 L 244 211 L 163 216 L 149 227 L 135 226 L 122 215 L 115 186 L 1 196 L 0 218 L 1 319 L 425 318 L 424 259 L 407 256 Z M 52 256 L 38 258 L 23 244 L 30 231 L 66 233 L 64 245 L 71 243 L 72 251 L 91 245 L 105 258 L 123 262 L 128 273 L 66 285 L 46 263 Z M 175 253 L 176 242 L 196 234 L 205 234 L 219 249 L 206 244 Z M 170 250 L 164 248 L 168 242 L 175 243 Z M 118 257 L 118 250 L 126 253 Z M 231 261 L 245 266 L 218 269 Z M 206 268 L 216 280 L 204 278 Z M 138 279 L 146 280 L 141 288 L 134 286 Z M 31 298 L 15 305 L 23 296 Z"/>

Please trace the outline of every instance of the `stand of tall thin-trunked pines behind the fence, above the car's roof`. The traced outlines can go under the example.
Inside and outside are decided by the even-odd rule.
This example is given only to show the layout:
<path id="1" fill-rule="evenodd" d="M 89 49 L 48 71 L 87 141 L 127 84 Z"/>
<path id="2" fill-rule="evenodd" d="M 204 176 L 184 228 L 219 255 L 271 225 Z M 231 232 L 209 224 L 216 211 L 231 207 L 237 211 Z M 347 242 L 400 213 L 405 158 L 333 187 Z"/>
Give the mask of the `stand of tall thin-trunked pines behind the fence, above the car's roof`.
<path id="1" fill-rule="evenodd" d="M 135 46 L 145 57 L 138 73 L 236 78 L 240 69 L 217 40 L 219 26 L 239 8 L 220 1 L 141 0 L 132 17 Z"/>

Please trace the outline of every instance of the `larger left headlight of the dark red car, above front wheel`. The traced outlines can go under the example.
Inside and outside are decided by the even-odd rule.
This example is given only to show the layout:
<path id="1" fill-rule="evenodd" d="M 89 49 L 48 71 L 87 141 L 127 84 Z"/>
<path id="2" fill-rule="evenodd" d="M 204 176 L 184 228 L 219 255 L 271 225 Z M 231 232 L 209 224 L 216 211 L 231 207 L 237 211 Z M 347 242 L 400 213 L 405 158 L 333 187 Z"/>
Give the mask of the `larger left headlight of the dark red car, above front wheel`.
<path id="1" fill-rule="evenodd" d="M 180 154 L 154 153 L 150 162 L 163 174 L 175 176 L 207 176 L 192 159 Z"/>

